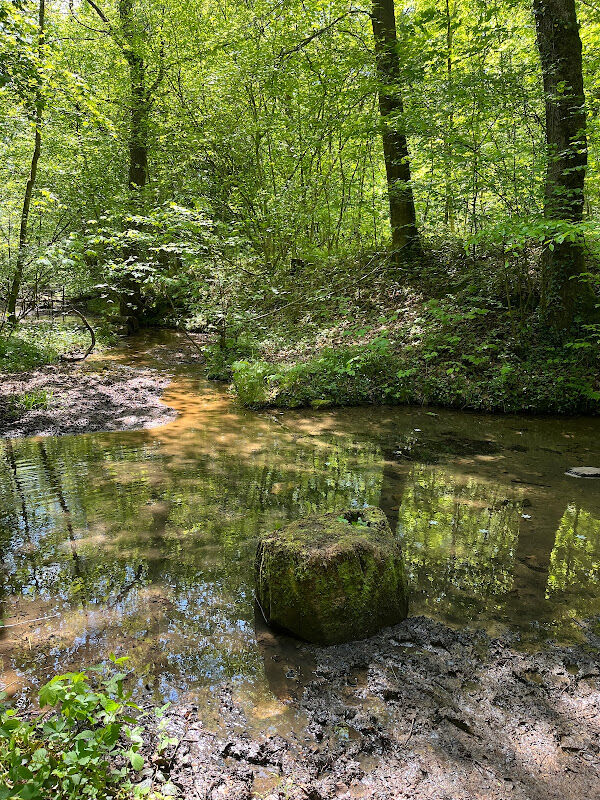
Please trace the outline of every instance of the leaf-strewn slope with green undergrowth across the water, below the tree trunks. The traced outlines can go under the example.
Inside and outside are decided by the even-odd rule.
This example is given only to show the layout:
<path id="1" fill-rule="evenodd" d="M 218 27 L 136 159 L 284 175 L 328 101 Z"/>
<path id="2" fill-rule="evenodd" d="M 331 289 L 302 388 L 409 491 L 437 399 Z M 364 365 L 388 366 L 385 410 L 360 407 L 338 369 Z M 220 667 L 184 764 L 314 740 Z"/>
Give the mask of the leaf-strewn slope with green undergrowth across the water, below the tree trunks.
<path id="1" fill-rule="evenodd" d="M 242 315 L 238 338 L 232 325 L 227 346 L 211 345 L 207 360 L 248 407 L 597 413 L 600 325 L 574 320 L 553 331 L 530 295 L 503 291 L 487 286 L 482 296 L 478 276 L 465 270 L 442 279 L 439 265 L 410 278 L 388 272 L 353 292 L 323 290 L 266 324 Z"/>

